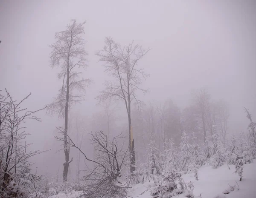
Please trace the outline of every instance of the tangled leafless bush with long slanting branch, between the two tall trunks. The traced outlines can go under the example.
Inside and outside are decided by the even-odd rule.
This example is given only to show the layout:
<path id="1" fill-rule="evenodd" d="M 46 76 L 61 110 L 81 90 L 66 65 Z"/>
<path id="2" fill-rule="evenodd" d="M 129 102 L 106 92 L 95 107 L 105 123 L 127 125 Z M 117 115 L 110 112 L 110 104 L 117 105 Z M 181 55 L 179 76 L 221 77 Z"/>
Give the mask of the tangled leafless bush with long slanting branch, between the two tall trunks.
<path id="1" fill-rule="evenodd" d="M 64 129 L 58 128 L 60 133 L 64 133 Z M 85 198 L 102 198 L 102 197 L 125 197 L 128 184 L 122 184 L 120 178 L 123 166 L 127 165 L 128 147 L 125 149 L 122 134 L 114 136 L 109 140 L 107 135 L 102 131 L 90 134 L 90 141 L 96 151 L 96 156 L 93 160 L 77 146 L 70 136 L 67 135 L 70 147 L 74 147 L 81 152 L 85 160 L 95 164 L 93 168 L 87 166 L 87 174 L 84 176 L 84 185 L 81 187 L 83 197 Z M 63 138 L 55 137 L 60 141 Z M 122 143 L 119 146 L 119 143 Z"/>

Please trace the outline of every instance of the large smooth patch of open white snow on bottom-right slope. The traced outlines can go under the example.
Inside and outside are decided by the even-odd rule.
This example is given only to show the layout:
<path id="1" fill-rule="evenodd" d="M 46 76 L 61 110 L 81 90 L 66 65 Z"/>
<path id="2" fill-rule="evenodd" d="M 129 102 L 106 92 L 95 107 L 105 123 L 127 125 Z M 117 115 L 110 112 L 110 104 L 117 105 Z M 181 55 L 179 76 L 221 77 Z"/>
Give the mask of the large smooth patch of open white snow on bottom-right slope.
<path id="1" fill-rule="evenodd" d="M 184 181 L 192 181 L 194 184 L 194 195 L 202 198 L 256 198 L 256 161 L 244 165 L 244 179 L 239 181 L 235 173 L 235 166 L 227 164 L 217 169 L 211 166 L 203 166 L 198 170 L 198 181 L 195 181 L 193 174 L 183 175 Z M 222 192 L 230 186 L 238 184 L 239 190 L 224 195 Z M 230 186 L 229 186 L 230 185 Z"/>

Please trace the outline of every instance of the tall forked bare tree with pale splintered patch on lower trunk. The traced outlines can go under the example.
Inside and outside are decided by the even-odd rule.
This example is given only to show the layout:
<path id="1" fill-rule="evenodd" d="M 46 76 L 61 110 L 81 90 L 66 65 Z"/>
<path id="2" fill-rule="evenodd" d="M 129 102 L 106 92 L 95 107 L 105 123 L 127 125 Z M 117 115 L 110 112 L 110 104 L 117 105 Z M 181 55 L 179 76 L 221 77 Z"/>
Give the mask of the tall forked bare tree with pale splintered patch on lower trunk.
<path id="1" fill-rule="evenodd" d="M 142 83 L 141 77 L 148 77 L 143 69 L 138 69 L 137 63 L 148 53 L 150 49 L 143 49 L 140 45 L 130 43 L 122 47 L 119 43 L 113 41 L 111 37 L 105 38 L 105 46 L 102 50 L 96 52 L 100 57 L 100 61 L 105 62 L 105 72 L 108 72 L 115 78 L 115 81 L 105 83 L 105 90 L 100 93 L 99 100 L 107 98 L 122 99 L 125 102 L 125 107 L 128 115 L 129 125 L 129 151 L 131 166 L 130 170 L 135 170 L 135 151 L 134 138 L 131 125 L 131 102 L 136 101 L 140 105 L 136 91 L 140 90 L 144 94 L 148 90 L 140 88 Z"/>

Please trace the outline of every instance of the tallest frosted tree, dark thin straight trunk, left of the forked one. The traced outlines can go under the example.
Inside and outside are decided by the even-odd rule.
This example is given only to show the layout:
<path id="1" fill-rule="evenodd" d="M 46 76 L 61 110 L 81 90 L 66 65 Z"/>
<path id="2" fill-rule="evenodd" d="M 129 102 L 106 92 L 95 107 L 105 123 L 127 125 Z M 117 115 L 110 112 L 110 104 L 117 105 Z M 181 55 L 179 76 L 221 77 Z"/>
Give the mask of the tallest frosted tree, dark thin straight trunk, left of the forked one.
<path id="1" fill-rule="evenodd" d="M 76 20 L 71 20 L 65 31 L 55 34 L 56 43 L 49 46 L 52 48 L 50 54 L 52 68 L 61 68 L 58 78 L 62 79 L 62 86 L 55 101 L 49 104 L 48 112 L 57 112 L 59 117 L 65 119 L 64 181 L 67 181 L 68 167 L 72 161 L 69 160 L 70 149 L 67 143 L 68 112 L 70 105 L 84 100 L 85 87 L 92 82 L 90 79 L 81 78 L 80 75 L 82 72 L 78 70 L 79 68 L 85 69 L 87 66 L 87 60 L 85 59 L 87 52 L 84 49 L 85 41 L 81 37 L 84 34 L 84 23 L 76 23 Z"/>

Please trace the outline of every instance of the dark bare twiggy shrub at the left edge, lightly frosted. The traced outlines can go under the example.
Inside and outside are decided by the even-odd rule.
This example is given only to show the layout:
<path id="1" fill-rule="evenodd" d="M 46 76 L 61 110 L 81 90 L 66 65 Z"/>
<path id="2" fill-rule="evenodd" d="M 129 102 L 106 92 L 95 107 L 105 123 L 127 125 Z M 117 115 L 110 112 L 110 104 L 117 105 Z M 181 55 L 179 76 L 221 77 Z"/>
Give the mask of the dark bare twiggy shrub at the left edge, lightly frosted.
<path id="1" fill-rule="evenodd" d="M 25 187 L 19 183 L 17 175 L 22 175 L 23 166 L 29 166 L 29 158 L 41 153 L 39 150 L 26 152 L 30 144 L 24 143 L 29 133 L 23 124 L 28 119 L 41 121 L 34 114 L 43 110 L 28 111 L 21 107 L 30 95 L 17 102 L 7 90 L 5 94 L 0 93 L 0 197 L 25 197 L 22 189 Z"/>

